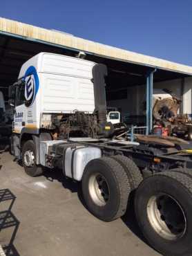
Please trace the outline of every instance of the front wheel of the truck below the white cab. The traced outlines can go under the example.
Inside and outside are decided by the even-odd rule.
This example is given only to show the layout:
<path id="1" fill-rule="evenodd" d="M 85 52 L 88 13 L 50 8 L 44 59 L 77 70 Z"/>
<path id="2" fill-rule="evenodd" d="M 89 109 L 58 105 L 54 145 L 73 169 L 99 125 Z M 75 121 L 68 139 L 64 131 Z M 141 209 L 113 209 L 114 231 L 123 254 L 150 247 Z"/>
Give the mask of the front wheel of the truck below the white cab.
<path id="1" fill-rule="evenodd" d="M 28 157 L 28 155 L 30 157 Z M 28 140 L 23 145 L 23 148 L 22 148 L 22 162 L 23 162 L 23 167 L 26 174 L 32 177 L 39 176 L 44 172 L 42 167 L 36 165 L 35 156 L 36 156 L 35 144 L 33 140 Z M 28 161 L 26 160 L 27 158 L 28 158 Z"/>

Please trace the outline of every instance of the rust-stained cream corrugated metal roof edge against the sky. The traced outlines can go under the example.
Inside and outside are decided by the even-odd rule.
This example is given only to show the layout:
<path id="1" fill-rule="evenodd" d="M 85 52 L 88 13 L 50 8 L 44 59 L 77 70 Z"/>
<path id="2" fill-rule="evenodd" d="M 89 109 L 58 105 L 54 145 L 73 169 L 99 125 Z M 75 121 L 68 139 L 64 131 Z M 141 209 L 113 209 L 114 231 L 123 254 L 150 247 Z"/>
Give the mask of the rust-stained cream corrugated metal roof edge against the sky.
<path id="1" fill-rule="evenodd" d="M 28 37 L 30 39 L 41 40 L 50 44 L 57 44 L 60 46 L 75 48 L 79 51 L 86 51 L 95 55 L 103 57 L 122 60 L 124 62 L 133 62 L 137 64 L 143 64 L 148 66 L 154 66 L 157 68 L 167 69 L 169 71 L 176 71 L 179 73 L 187 73 L 192 75 L 192 67 L 183 64 L 177 64 L 175 62 L 169 62 L 156 57 L 150 57 L 142 55 L 140 53 L 134 53 L 126 51 L 113 46 L 107 46 L 92 42 L 86 39 L 81 39 L 70 34 L 60 33 L 55 30 L 48 30 L 23 24 L 18 21 L 12 21 L 10 19 L 4 19 L 0 17 L 0 31 L 3 33 L 11 33 L 19 35 L 21 37 Z"/>

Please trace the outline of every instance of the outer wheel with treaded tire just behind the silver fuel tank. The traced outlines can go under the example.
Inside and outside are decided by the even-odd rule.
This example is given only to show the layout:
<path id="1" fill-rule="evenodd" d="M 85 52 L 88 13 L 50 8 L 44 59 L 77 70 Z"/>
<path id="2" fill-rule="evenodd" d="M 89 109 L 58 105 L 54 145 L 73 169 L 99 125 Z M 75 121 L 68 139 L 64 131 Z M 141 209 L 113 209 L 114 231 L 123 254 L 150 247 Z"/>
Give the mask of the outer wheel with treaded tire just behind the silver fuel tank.
<path id="1" fill-rule="evenodd" d="M 122 165 L 113 158 L 102 157 L 86 165 L 82 192 L 95 217 L 113 221 L 125 214 L 131 187 Z"/>

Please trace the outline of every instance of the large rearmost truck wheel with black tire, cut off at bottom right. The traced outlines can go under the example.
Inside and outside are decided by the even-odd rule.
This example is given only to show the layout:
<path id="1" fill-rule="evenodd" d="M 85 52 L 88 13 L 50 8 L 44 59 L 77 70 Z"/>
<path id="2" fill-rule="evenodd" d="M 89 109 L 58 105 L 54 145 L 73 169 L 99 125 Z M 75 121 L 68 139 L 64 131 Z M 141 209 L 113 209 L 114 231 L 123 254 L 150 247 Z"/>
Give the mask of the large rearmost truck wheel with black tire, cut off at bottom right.
<path id="1" fill-rule="evenodd" d="M 192 179 L 165 171 L 148 177 L 135 194 L 135 214 L 148 240 L 162 255 L 192 255 Z"/>

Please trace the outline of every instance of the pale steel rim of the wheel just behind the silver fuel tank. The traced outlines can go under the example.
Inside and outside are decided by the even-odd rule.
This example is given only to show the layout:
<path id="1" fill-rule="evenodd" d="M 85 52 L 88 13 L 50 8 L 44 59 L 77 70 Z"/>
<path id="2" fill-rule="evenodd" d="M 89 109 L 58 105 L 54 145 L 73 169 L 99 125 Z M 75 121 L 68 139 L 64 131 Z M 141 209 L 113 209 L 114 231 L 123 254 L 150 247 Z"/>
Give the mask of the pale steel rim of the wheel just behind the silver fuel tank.
<path id="1" fill-rule="evenodd" d="M 90 197 L 97 205 L 106 205 L 110 196 L 110 191 L 108 183 L 102 174 L 95 173 L 90 176 L 88 181 L 88 190 Z"/>

